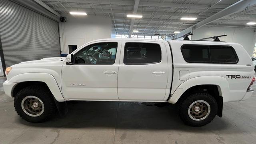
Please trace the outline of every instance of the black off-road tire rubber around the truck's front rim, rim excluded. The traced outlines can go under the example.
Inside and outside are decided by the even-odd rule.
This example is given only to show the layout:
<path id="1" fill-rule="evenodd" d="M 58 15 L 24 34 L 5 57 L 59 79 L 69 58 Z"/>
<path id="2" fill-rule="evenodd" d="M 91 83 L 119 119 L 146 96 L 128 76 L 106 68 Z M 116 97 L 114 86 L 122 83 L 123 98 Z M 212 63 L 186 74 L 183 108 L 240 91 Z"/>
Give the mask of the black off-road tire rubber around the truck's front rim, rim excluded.
<path id="1" fill-rule="evenodd" d="M 44 112 L 40 116 L 29 116 L 22 110 L 22 100 L 26 96 L 36 96 L 42 100 L 44 104 Z M 14 97 L 14 108 L 21 118 L 28 122 L 35 123 L 47 121 L 56 113 L 56 105 L 51 92 L 42 86 L 28 86 L 21 89 Z"/>

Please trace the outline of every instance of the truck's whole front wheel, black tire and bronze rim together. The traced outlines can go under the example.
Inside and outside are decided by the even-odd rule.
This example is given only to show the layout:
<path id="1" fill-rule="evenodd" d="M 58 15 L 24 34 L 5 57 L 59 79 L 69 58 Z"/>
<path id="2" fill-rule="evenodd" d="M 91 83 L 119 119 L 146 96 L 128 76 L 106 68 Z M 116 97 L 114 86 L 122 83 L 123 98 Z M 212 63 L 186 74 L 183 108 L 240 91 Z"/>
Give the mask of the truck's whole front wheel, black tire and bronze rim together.
<path id="1" fill-rule="evenodd" d="M 14 108 L 28 122 L 44 122 L 56 112 L 52 94 L 40 86 L 28 86 L 20 90 L 14 97 Z"/>

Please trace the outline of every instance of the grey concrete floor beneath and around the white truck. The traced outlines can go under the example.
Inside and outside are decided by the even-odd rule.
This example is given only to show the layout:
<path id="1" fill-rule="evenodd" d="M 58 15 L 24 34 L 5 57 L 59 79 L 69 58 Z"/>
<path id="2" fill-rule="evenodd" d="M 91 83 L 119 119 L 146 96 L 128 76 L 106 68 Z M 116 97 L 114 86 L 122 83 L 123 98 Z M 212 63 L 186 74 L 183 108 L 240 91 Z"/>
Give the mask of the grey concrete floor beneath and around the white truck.
<path id="1" fill-rule="evenodd" d="M 194 128 L 179 119 L 174 105 L 139 102 L 69 102 L 69 112 L 33 124 L 15 112 L 0 78 L 0 144 L 255 144 L 256 92 L 224 104 L 223 117 Z M 256 86 L 254 86 L 256 87 Z"/>

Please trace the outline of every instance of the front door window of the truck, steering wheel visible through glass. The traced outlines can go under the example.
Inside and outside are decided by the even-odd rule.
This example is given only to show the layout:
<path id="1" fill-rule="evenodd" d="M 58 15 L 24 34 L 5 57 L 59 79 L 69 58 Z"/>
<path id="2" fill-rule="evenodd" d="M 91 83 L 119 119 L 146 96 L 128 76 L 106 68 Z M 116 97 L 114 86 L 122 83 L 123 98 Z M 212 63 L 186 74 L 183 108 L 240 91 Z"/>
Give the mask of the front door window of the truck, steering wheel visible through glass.
<path id="1" fill-rule="evenodd" d="M 114 64 L 117 42 L 91 44 L 75 55 L 75 64 Z"/>

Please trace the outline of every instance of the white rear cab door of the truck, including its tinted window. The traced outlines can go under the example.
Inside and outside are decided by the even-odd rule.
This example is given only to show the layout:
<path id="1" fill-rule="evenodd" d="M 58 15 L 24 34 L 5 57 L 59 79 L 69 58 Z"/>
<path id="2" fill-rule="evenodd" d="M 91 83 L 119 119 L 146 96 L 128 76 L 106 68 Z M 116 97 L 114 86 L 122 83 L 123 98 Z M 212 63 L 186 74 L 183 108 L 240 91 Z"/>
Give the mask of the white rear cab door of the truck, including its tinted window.
<path id="1" fill-rule="evenodd" d="M 163 100 L 167 80 L 168 61 L 164 43 L 122 41 L 118 70 L 120 100 Z"/>

